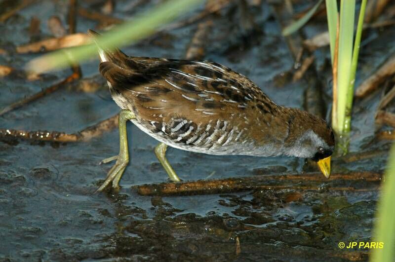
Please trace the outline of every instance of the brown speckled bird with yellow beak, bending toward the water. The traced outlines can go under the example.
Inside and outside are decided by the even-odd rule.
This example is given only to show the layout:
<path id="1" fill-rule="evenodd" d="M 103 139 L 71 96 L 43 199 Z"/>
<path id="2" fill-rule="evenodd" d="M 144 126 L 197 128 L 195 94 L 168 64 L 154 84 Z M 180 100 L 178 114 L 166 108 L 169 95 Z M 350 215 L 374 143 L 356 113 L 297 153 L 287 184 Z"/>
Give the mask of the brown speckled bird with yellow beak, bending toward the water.
<path id="1" fill-rule="evenodd" d="M 97 33 L 89 30 L 95 37 Z M 244 75 L 217 63 L 129 57 L 98 45 L 100 74 L 119 113 L 119 154 L 98 188 L 118 188 L 129 161 L 126 121 L 160 143 L 155 154 L 169 178 L 180 181 L 165 157 L 167 146 L 215 155 L 289 155 L 317 161 L 330 174 L 334 135 L 326 122 L 281 107 Z"/>

